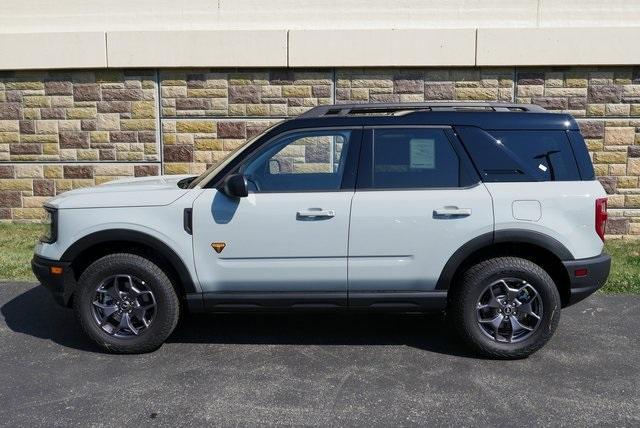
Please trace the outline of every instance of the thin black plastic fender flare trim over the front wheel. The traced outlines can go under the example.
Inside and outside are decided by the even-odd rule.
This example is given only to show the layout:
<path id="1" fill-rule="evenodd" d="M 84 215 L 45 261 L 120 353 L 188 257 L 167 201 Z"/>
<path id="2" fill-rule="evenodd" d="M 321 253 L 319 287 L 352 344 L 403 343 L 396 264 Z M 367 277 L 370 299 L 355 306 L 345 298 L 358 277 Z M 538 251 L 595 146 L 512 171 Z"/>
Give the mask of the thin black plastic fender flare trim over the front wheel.
<path id="1" fill-rule="evenodd" d="M 60 259 L 66 262 L 73 262 L 83 251 L 86 251 L 97 244 L 105 244 L 109 242 L 131 242 L 134 244 L 142 244 L 154 251 L 157 251 L 169 261 L 173 269 L 177 272 L 184 291 L 186 293 L 197 292 L 196 286 L 191 278 L 191 274 L 180 256 L 178 256 L 171 247 L 158 238 L 136 230 L 106 229 L 90 233 L 69 246 Z"/>

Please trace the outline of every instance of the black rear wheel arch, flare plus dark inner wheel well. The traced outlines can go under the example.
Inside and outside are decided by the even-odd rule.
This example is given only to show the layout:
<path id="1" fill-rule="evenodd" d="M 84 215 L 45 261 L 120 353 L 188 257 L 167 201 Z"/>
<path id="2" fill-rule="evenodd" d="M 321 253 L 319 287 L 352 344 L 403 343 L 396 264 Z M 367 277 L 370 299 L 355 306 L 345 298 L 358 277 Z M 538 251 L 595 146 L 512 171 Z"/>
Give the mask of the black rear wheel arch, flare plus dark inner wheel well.
<path id="1" fill-rule="evenodd" d="M 521 257 L 541 266 L 551 276 L 562 300 L 569 302 L 569 275 L 563 260 L 574 260 L 571 252 L 556 239 L 529 230 L 503 230 L 480 235 L 456 251 L 443 268 L 436 290 L 455 287 L 460 276 L 483 260 L 501 256 Z"/>

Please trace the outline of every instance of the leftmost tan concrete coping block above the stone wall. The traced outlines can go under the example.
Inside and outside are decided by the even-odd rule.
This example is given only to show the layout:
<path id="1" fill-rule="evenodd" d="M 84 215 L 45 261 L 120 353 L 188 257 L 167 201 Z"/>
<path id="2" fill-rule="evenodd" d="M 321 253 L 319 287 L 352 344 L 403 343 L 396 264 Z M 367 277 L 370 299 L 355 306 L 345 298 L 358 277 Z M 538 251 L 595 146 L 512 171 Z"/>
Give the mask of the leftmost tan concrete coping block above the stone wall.
<path id="1" fill-rule="evenodd" d="M 0 69 L 104 68 L 103 32 L 1 33 Z"/>

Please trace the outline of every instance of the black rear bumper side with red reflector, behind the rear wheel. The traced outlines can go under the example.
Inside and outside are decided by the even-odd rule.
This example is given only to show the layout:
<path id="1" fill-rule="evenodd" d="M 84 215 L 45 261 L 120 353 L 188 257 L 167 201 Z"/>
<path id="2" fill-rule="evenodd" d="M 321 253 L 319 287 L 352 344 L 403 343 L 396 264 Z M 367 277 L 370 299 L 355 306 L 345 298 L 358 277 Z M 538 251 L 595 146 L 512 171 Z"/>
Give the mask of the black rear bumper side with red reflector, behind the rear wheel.
<path id="1" fill-rule="evenodd" d="M 611 256 L 602 253 L 596 257 L 565 261 L 562 264 L 569 274 L 569 306 L 590 296 L 604 285 L 611 269 Z"/>

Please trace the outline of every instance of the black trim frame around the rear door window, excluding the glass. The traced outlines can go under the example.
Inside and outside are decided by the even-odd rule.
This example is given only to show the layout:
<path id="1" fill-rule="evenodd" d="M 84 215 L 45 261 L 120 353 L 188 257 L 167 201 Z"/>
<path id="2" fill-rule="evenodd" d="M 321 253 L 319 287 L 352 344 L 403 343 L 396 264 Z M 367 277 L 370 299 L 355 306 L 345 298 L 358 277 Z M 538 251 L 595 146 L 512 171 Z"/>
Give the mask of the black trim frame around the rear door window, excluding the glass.
<path id="1" fill-rule="evenodd" d="M 374 131 L 376 129 L 441 129 L 443 130 L 445 137 L 449 141 L 451 148 L 454 150 L 460 161 L 460 169 L 464 168 L 465 173 L 470 176 L 470 183 L 465 186 L 452 186 L 452 187 L 394 187 L 394 188 L 373 188 L 373 187 L 361 187 L 361 177 L 365 176 L 363 172 L 364 165 L 367 162 L 363 162 L 362 157 L 365 156 L 367 151 L 364 149 L 365 145 L 373 144 Z M 475 166 L 471 162 L 468 153 L 464 149 L 461 141 L 458 139 L 456 133 L 451 125 L 368 125 L 363 127 L 362 142 L 360 147 L 360 157 L 358 159 L 358 180 L 356 183 L 356 192 L 403 192 L 403 191 L 425 191 L 425 190 L 468 190 L 479 186 L 482 183 L 480 175 L 478 174 Z M 370 184 L 369 184 L 370 185 Z"/>

